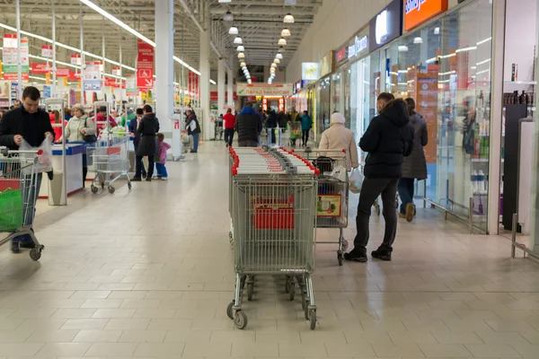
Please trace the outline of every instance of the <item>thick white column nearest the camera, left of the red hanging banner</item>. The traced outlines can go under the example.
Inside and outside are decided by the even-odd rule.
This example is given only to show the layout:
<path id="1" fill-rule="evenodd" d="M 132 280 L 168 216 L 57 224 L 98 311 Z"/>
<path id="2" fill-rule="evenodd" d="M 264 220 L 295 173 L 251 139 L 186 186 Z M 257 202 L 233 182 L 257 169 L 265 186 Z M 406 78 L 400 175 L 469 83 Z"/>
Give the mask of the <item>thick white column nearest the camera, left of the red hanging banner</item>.
<path id="1" fill-rule="evenodd" d="M 174 111 L 174 0 L 155 2 L 155 115 L 161 132 L 171 132 Z"/>

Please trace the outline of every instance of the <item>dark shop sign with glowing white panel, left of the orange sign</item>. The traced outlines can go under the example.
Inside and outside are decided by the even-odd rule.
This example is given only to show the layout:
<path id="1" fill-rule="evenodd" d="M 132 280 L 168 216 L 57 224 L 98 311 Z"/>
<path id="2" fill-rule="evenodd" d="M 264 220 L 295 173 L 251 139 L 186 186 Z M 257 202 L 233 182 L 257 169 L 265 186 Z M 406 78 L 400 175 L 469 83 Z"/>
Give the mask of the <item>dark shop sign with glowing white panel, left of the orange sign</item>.
<path id="1" fill-rule="evenodd" d="M 369 51 L 375 51 L 402 35 L 402 0 L 393 0 L 369 23 Z"/>

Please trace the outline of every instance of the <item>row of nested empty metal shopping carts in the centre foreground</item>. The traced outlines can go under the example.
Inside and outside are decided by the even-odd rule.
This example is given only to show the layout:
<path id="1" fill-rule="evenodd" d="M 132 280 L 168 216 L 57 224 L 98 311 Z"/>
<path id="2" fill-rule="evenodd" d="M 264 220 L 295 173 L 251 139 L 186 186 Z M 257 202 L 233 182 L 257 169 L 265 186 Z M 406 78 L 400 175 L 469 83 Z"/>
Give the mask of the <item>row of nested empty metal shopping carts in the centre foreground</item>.
<path id="1" fill-rule="evenodd" d="M 302 294 L 305 320 L 316 327 L 311 274 L 314 271 L 314 220 L 318 171 L 296 153 L 272 148 L 229 149 L 233 159 L 234 300 L 226 314 L 236 328 L 247 326 L 243 288 L 252 300 L 259 275 L 285 276 L 294 300 Z M 291 293 L 291 294 L 290 294 Z"/>

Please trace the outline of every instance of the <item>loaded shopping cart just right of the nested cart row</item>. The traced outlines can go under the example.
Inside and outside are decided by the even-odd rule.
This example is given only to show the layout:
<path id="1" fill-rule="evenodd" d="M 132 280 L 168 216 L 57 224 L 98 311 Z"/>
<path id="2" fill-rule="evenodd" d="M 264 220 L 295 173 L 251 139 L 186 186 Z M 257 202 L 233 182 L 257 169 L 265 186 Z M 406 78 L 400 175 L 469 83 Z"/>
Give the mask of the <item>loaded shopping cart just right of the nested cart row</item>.
<path id="1" fill-rule="evenodd" d="M 318 244 L 337 244 L 337 260 L 342 266 L 344 253 L 349 242 L 344 238 L 344 229 L 348 227 L 349 211 L 349 157 L 346 149 L 342 150 L 296 150 L 321 172 L 318 179 L 318 200 L 316 204 L 316 227 L 339 229 L 337 241 L 316 241 Z"/>

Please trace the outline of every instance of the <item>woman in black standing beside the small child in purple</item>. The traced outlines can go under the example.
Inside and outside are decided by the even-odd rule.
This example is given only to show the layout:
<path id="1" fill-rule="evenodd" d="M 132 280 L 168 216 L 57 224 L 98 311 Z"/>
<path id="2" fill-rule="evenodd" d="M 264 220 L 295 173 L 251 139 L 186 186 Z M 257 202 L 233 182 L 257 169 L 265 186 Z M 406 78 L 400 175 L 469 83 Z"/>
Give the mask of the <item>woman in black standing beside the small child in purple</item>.
<path id="1" fill-rule="evenodd" d="M 159 131 L 159 120 L 155 117 L 155 113 L 150 105 L 143 107 L 144 117 L 140 119 L 137 127 L 137 132 L 140 134 L 140 142 L 137 146 L 137 156 L 135 162 L 135 177 L 132 181 L 142 180 L 142 160 L 143 157 L 148 157 L 148 170 L 146 180 L 152 180 L 154 174 L 155 154 L 157 154 L 157 141 L 155 135 Z"/>

